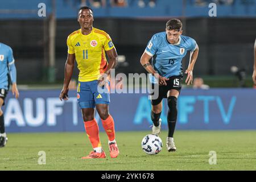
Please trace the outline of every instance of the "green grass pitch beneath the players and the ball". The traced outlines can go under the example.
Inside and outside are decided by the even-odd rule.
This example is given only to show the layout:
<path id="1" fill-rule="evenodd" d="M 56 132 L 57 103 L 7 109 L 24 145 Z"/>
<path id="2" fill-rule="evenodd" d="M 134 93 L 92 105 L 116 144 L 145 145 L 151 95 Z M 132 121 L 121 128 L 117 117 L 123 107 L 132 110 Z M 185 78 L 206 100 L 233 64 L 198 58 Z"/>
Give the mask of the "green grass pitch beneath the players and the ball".
<path id="1" fill-rule="evenodd" d="M 256 170 L 256 131 L 176 131 L 176 152 L 166 150 L 166 132 L 160 134 L 163 150 L 142 151 L 141 140 L 150 131 L 117 132 L 120 154 L 112 159 L 105 133 L 100 133 L 105 159 L 80 159 L 92 150 L 85 133 L 7 134 L 0 148 L 0 170 Z M 39 151 L 46 164 L 39 165 Z M 216 151 L 217 164 L 209 164 Z"/>

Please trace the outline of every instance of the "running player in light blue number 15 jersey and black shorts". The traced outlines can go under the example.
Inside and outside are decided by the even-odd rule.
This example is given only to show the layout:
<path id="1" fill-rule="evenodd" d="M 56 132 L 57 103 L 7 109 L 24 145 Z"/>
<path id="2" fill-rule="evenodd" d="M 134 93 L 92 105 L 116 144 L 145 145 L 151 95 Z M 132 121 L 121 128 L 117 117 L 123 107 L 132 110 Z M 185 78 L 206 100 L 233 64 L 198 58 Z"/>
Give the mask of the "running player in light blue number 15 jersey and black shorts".
<path id="1" fill-rule="evenodd" d="M 151 83 L 154 87 L 159 84 L 158 98 L 151 98 L 151 119 L 154 123 L 152 134 L 160 134 L 162 112 L 162 100 L 167 98 L 168 104 L 168 137 L 167 150 L 176 151 L 174 143 L 174 130 L 177 121 L 177 98 L 181 90 L 181 81 L 183 80 L 183 68 L 181 61 L 188 51 L 191 51 L 189 65 L 185 74 L 187 85 L 192 84 L 193 68 L 196 63 L 199 47 L 194 39 L 182 34 L 182 23 L 179 19 L 170 19 L 166 23 L 166 31 L 159 32 L 152 36 L 141 57 L 141 64 L 151 73 Z M 150 63 L 151 58 L 152 64 Z M 158 73 L 158 74 L 156 74 Z M 154 93 L 151 93 L 154 94 Z"/>

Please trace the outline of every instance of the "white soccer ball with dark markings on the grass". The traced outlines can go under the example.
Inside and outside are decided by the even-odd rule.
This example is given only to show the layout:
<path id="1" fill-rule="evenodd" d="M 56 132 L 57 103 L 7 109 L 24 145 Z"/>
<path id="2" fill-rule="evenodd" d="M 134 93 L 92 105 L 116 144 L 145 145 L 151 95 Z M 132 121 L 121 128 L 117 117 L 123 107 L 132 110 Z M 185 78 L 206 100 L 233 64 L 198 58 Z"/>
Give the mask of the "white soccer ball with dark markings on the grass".
<path id="1" fill-rule="evenodd" d="M 150 134 L 142 139 L 141 147 L 146 154 L 155 155 L 162 150 L 163 144 L 160 137 Z"/>

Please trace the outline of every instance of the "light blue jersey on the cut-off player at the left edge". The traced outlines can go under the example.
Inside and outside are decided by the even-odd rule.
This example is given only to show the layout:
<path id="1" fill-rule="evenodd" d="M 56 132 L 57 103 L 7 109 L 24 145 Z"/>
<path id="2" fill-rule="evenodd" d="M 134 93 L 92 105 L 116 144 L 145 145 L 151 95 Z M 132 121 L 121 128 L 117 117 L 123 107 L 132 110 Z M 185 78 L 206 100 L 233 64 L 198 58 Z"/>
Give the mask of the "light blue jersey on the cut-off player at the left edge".
<path id="1" fill-rule="evenodd" d="M 13 50 L 6 44 L 0 43 L 0 89 L 9 89 L 9 67 L 13 64 Z M 16 80 L 16 75 L 12 80 Z"/>

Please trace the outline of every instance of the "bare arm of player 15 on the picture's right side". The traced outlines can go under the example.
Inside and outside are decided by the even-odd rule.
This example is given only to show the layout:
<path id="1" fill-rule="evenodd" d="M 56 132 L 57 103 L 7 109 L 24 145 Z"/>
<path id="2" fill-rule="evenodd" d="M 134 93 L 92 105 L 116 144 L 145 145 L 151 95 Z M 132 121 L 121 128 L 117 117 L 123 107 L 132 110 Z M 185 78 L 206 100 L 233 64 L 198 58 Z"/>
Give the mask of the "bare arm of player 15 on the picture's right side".
<path id="1" fill-rule="evenodd" d="M 192 81 L 193 81 L 193 69 L 194 69 L 194 66 L 195 66 L 195 63 L 196 63 L 196 59 L 197 59 L 198 53 L 199 53 L 199 47 L 198 47 L 198 45 L 196 45 L 195 51 L 191 51 L 188 69 L 185 71 L 185 74 L 188 74 L 187 79 L 185 81 L 185 83 L 187 85 L 192 84 Z"/>

